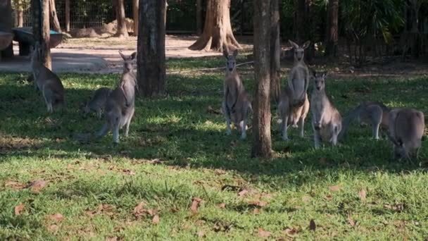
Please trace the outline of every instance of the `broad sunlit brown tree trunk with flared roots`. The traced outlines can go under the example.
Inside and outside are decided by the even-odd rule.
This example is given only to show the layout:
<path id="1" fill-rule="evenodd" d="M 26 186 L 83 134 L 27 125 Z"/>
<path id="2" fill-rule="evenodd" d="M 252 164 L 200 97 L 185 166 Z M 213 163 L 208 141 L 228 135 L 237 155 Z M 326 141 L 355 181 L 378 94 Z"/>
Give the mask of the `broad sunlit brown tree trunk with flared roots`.
<path id="1" fill-rule="evenodd" d="M 223 51 L 223 45 L 241 49 L 230 23 L 230 0 L 208 0 L 201 37 L 189 49 Z"/>

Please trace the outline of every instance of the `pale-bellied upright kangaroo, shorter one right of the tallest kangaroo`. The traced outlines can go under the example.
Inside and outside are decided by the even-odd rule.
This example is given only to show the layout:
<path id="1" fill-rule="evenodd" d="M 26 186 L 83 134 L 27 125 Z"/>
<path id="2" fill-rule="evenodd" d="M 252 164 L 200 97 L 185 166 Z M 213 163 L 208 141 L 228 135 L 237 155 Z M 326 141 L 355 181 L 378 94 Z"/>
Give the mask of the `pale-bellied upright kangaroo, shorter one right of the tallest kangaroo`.
<path id="1" fill-rule="evenodd" d="M 315 149 L 320 147 L 321 140 L 329 140 L 337 144 L 337 136 L 342 128 L 342 118 L 333 106 L 325 92 L 326 72 L 313 70 L 314 88 L 310 99 L 312 111 L 312 128 L 314 132 Z"/>

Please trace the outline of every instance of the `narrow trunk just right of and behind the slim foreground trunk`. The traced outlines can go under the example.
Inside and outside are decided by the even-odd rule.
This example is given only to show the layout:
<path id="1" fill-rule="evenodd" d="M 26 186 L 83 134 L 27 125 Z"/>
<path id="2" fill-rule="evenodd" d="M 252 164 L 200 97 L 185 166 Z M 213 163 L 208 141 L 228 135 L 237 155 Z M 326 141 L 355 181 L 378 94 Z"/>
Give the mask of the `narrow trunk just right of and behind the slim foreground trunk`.
<path id="1" fill-rule="evenodd" d="M 270 1 L 270 97 L 278 102 L 281 93 L 281 44 L 279 42 L 279 2 Z"/>

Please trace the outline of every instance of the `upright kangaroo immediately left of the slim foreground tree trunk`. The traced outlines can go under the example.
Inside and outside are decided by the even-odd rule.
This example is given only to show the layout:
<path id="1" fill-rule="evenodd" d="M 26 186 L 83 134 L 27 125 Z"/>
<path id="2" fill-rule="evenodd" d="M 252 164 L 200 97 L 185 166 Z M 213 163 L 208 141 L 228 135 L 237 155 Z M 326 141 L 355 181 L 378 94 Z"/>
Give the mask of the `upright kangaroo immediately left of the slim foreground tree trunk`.
<path id="1" fill-rule="evenodd" d="M 223 49 L 223 56 L 227 62 L 222 110 L 225 113 L 227 135 L 231 133 L 230 122 L 232 121 L 241 132 L 241 139 L 244 140 L 246 138 L 248 113 L 252 111 L 251 101 L 237 72 L 238 50 L 235 49 L 233 54 L 229 54 L 227 47 L 223 47 Z"/>

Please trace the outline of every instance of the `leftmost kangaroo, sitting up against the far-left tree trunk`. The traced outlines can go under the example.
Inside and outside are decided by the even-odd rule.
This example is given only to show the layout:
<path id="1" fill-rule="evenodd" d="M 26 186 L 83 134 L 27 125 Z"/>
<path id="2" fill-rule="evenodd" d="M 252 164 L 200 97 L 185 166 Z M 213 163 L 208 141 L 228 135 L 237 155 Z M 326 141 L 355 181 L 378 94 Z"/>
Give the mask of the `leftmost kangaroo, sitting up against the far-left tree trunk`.
<path id="1" fill-rule="evenodd" d="M 58 76 L 40 61 L 41 49 L 35 44 L 32 49 L 31 68 L 36 89 L 42 92 L 49 113 L 53 112 L 53 106 L 65 107 L 64 87 Z"/>

